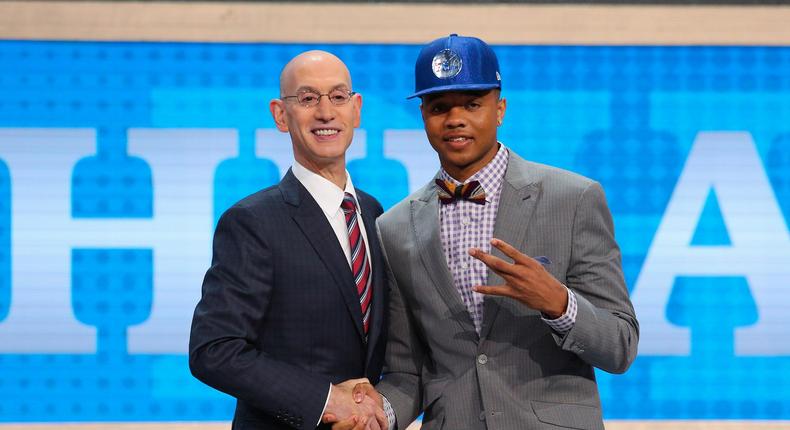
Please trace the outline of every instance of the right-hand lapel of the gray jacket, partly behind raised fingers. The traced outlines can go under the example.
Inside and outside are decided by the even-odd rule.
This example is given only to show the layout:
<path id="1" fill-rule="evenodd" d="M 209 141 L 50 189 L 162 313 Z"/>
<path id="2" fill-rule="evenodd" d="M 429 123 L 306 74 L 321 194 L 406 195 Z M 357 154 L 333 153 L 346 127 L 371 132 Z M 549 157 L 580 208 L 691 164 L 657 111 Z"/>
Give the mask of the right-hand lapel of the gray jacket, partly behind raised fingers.
<path id="1" fill-rule="evenodd" d="M 540 182 L 530 176 L 524 160 L 513 153 L 509 154 L 505 180 L 502 183 L 502 194 L 499 198 L 494 237 L 502 239 L 523 252 L 526 248 L 527 228 L 535 205 L 540 197 Z M 500 250 L 492 247 L 491 254 L 510 261 Z M 488 285 L 503 284 L 501 276 L 488 270 Z M 494 325 L 503 297 L 487 296 L 483 302 L 483 325 L 480 338 L 485 338 Z"/>

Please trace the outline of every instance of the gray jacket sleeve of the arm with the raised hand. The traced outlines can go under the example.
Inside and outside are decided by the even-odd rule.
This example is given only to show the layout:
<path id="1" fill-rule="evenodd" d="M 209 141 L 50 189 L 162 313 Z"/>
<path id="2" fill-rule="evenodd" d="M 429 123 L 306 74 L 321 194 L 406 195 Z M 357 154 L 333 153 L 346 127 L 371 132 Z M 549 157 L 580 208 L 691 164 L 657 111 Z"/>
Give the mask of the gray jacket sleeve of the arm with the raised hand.
<path id="1" fill-rule="evenodd" d="M 579 197 L 572 240 L 567 286 L 576 293 L 576 323 L 555 339 L 590 365 L 623 373 L 636 358 L 639 325 L 623 279 L 612 216 L 598 183 Z"/>

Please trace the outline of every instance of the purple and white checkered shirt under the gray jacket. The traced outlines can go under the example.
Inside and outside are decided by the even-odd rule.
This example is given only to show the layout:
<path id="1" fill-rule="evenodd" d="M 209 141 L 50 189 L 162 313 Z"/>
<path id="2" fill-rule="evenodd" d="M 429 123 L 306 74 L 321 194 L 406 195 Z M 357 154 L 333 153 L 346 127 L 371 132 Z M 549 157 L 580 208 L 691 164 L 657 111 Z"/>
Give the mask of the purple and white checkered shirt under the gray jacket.
<path id="1" fill-rule="evenodd" d="M 494 235 L 494 223 L 507 170 L 508 154 L 505 145 L 500 144 L 494 158 L 466 180 L 466 182 L 474 180 L 480 182 L 486 194 L 485 205 L 456 200 L 441 205 L 439 210 L 442 250 L 447 267 L 453 275 L 453 284 L 461 295 L 478 333 L 483 323 L 484 295 L 472 291 L 472 287 L 487 285 L 488 267 L 480 260 L 472 258 L 467 251 L 469 248 L 478 248 L 487 253 L 491 252 L 491 238 Z M 460 184 L 444 169 L 440 172 L 440 178 Z M 507 241 L 508 238 L 502 239 Z M 570 290 L 568 290 L 568 307 L 565 314 L 555 320 L 544 318 L 552 329 L 561 334 L 569 331 L 575 320 L 576 298 Z"/>

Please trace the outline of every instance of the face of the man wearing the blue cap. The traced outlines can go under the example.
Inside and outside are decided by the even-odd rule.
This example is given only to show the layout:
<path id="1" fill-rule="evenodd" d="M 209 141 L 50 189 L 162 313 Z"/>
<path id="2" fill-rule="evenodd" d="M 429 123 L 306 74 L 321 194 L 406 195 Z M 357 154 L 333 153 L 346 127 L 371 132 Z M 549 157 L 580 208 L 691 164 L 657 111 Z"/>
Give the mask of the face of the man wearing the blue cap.
<path id="1" fill-rule="evenodd" d="M 423 97 L 425 134 L 442 167 L 465 181 L 490 162 L 497 151 L 497 127 L 506 101 L 499 90 L 448 91 Z"/>

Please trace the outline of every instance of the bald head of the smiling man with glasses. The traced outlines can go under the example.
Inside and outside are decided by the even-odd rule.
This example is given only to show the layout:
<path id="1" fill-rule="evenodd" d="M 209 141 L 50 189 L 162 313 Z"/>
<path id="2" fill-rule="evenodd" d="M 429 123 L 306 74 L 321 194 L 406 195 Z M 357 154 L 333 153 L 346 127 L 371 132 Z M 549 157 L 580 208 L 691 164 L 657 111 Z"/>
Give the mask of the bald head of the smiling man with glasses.
<path id="1" fill-rule="evenodd" d="M 328 52 L 300 54 L 280 75 L 281 97 L 305 91 L 328 94 L 338 89 L 351 91 L 351 76 L 345 64 Z M 313 172 L 345 170 L 346 149 L 351 145 L 354 128 L 359 127 L 361 107 L 358 94 L 341 106 L 323 96 L 312 107 L 300 105 L 295 98 L 269 103 L 277 129 L 291 135 L 294 158 Z"/>

